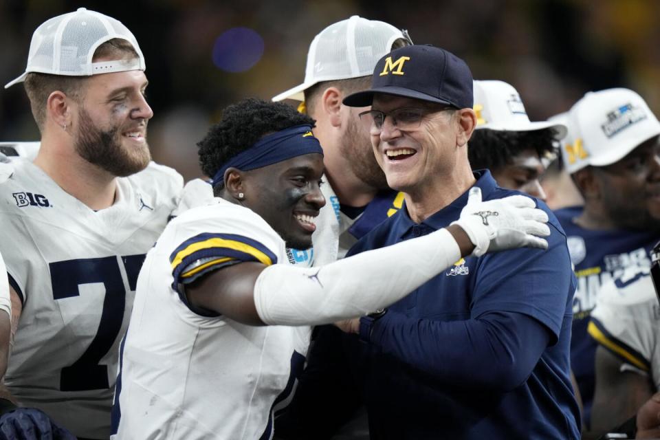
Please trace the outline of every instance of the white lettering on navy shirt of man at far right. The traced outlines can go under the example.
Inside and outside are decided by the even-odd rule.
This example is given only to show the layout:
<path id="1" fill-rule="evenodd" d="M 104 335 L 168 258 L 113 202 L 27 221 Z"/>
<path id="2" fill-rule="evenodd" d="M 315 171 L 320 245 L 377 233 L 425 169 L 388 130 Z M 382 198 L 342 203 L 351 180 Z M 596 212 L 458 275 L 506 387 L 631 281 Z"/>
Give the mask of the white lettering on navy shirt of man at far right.
<path id="1" fill-rule="evenodd" d="M 621 278 L 633 267 L 648 270 L 651 260 L 644 248 L 624 252 L 622 254 L 606 255 L 603 259 L 604 267 L 586 267 L 575 271 L 577 276 L 577 289 L 573 296 L 573 318 L 584 319 L 591 314 L 596 305 L 600 287 L 612 278 Z"/>

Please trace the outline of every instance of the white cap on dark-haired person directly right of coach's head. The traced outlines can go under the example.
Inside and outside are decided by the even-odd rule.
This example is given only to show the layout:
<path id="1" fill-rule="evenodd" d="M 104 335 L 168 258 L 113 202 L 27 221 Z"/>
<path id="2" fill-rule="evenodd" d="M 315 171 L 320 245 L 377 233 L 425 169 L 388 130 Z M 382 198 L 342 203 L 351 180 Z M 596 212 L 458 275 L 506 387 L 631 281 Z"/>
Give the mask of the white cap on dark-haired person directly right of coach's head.
<path id="1" fill-rule="evenodd" d="M 560 122 L 530 122 L 520 94 L 514 86 L 498 80 L 474 80 L 476 130 L 534 131 L 555 129 L 555 139 L 566 136 L 566 125 Z"/>

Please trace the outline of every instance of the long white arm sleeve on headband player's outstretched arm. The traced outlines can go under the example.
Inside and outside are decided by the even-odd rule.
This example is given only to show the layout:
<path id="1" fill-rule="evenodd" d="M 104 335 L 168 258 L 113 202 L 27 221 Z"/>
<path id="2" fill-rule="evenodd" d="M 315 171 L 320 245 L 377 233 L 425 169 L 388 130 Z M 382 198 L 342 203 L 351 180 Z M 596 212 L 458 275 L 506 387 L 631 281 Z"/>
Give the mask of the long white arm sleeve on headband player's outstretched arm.
<path id="1" fill-rule="evenodd" d="M 268 325 L 321 325 L 388 307 L 461 259 L 445 229 L 322 267 L 276 264 L 256 279 L 254 303 Z"/>

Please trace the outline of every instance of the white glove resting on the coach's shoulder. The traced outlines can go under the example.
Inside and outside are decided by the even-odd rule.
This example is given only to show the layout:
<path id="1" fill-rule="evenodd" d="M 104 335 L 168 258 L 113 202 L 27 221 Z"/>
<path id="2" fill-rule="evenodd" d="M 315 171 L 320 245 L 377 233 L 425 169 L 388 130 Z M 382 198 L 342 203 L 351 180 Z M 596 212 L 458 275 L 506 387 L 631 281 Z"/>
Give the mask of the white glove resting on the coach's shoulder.
<path id="1" fill-rule="evenodd" d="M 522 195 L 481 201 L 481 188 L 475 186 L 461 217 L 452 225 L 459 225 L 470 237 L 474 256 L 524 246 L 547 249 L 548 242 L 539 237 L 550 235 L 545 224 L 548 214 L 535 206 L 532 199 Z"/>

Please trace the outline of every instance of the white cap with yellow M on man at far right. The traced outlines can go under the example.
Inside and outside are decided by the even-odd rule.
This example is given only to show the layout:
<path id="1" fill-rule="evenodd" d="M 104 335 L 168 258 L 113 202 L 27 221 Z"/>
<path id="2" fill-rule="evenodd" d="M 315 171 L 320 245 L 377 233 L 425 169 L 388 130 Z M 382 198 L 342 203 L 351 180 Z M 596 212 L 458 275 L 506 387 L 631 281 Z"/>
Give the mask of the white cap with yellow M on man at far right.
<path id="1" fill-rule="evenodd" d="M 569 112 L 573 143 L 562 146 L 569 174 L 585 166 L 606 166 L 660 135 L 660 122 L 630 89 L 590 91 Z"/>

